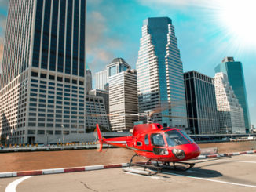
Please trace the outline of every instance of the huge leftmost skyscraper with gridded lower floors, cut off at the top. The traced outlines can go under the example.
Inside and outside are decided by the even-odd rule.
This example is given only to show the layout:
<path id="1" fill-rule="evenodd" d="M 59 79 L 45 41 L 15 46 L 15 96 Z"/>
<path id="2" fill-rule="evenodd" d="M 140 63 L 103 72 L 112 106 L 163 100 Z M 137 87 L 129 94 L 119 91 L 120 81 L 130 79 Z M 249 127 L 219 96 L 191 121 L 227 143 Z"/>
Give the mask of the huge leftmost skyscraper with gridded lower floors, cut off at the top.
<path id="1" fill-rule="evenodd" d="M 18 13 L 18 14 L 17 14 Z M 0 133 L 46 143 L 84 132 L 85 0 L 9 0 Z"/>

